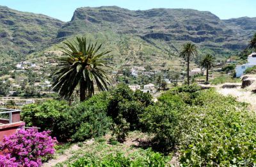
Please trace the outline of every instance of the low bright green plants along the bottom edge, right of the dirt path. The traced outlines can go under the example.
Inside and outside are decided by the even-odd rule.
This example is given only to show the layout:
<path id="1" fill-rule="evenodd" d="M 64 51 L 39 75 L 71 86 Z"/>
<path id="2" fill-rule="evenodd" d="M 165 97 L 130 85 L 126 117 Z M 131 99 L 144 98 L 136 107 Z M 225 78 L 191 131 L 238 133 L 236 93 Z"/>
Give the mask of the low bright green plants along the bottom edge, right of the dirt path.
<path id="1" fill-rule="evenodd" d="M 164 167 L 167 164 L 167 159 L 157 152 L 152 152 L 148 149 L 143 156 L 134 156 L 132 154 L 125 157 L 124 154 L 118 152 L 116 155 L 109 154 L 103 157 L 101 160 L 93 155 L 87 155 L 81 157 L 73 164 L 69 164 L 69 167 L 75 166 L 106 166 L 106 167 L 130 167 L 130 166 L 157 166 Z"/>

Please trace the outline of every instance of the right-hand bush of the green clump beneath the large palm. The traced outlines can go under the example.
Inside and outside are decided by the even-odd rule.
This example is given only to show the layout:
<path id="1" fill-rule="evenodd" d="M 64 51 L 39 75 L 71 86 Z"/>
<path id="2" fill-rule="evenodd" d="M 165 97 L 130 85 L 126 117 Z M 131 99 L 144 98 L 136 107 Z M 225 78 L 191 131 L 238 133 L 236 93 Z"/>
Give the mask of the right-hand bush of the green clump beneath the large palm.
<path id="1" fill-rule="evenodd" d="M 101 93 L 70 108 L 71 118 L 62 122 L 61 127 L 70 126 L 73 141 L 99 137 L 109 131 L 112 120 L 107 116 L 107 96 L 108 93 Z"/>

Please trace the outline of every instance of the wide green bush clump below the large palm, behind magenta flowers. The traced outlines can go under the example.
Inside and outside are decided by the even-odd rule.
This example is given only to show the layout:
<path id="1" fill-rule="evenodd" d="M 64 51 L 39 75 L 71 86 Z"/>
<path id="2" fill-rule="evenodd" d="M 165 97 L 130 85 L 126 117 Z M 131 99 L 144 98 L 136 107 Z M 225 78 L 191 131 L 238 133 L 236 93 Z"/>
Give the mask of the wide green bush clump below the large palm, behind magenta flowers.
<path id="1" fill-rule="evenodd" d="M 48 100 L 22 107 L 21 118 L 28 126 L 52 131 L 51 135 L 58 141 L 84 141 L 104 135 L 109 130 L 108 104 L 108 93 L 100 93 L 73 106 Z"/>

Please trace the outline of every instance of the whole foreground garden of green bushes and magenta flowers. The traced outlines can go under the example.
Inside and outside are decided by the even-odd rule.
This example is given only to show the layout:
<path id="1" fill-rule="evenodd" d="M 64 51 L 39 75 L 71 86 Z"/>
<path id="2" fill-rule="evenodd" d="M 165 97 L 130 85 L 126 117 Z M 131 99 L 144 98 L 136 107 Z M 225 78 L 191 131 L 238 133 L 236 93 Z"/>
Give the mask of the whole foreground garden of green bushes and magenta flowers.
<path id="1" fill-rule="evenodd" d="M 246 107 L 196 84 L 172 88 L 156 103 L 149 93 L 120 84 L 71 106 L 29 104 L 22 120 L 40 130 L 6 137 L 0 164 L 41 166 L 76 144 L 56 166 L 253 166 L 256 116 Z"/>

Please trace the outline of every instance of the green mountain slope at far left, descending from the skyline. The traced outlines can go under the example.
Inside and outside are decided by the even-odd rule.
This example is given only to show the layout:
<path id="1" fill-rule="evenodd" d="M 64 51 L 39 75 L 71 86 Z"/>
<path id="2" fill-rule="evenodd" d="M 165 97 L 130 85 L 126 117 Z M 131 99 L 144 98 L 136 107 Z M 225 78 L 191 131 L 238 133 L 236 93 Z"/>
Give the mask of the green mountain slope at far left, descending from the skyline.
<path id="1" fill-rule="evenodd" d="M 36 51 L 57 35 L 64 22 L 45 15 L 0 6 L 0 57 L 13 58 Z"/>

